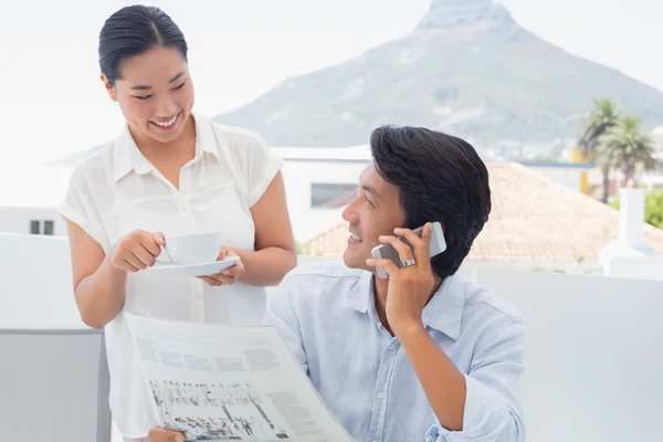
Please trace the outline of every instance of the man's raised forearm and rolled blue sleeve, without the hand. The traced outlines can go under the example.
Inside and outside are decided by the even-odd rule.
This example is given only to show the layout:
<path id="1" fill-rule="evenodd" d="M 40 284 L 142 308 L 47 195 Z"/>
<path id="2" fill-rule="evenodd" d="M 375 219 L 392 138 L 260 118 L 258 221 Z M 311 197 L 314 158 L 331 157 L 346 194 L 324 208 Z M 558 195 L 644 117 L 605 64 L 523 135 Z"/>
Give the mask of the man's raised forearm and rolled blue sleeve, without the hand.
<path id="1" fill-rule="evenodd" d="M 525 440 L 518 388 L 524 371 L 522 323 L 505 317 L 487 327 L 467 375 L 459 371 L 423 326 L 399 332 L 436 418 L 438 424 L 427 434 L 431 440 Z"/>

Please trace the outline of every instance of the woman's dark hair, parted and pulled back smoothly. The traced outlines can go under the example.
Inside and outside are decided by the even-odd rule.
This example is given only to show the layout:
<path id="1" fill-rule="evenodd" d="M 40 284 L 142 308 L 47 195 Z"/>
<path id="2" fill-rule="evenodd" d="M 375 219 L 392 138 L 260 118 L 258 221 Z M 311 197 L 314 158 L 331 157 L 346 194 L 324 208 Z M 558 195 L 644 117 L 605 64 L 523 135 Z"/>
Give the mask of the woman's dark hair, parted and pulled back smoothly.
<path id="1" fill-rule="evenodd" d="M 157 46 L 177 49 L 187 61 L 185 34 L 157 7 L 134 4 L 110 15 L 99 32 L 99 67 L 108 82 L 122 78 L 122 62 Z"/>

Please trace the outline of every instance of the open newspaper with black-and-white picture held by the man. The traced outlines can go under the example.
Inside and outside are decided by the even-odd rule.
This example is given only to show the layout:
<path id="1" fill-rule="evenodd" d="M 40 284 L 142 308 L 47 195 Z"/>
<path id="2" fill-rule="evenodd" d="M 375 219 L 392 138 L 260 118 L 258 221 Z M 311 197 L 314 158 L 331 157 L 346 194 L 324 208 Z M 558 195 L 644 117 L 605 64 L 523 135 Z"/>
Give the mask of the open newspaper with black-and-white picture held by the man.
<path id="1" fill-rule="evenodd" d="M 159 427 L 187 441 L 352 441 L 276 328 L 125 315 Z"/>

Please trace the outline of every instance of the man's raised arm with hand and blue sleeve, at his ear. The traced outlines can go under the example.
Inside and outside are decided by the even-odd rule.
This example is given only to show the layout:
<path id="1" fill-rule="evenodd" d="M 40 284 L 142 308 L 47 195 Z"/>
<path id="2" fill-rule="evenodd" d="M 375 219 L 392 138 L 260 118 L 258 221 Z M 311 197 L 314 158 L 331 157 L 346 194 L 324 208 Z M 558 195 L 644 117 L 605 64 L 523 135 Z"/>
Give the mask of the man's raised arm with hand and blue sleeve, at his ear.
<path id="1" fill-rule="evenodd" d="M 419 238 L 409 229 L 380 236 L 391 244 L 401 261 L 413 265 L 399 269 L 391 260 L 367 260 L 389 274 L 386 313 L 435 414 L 436 423 L 427 441 L 520 442 L 525 430 L 518 385 L 524 371 L 525 329 L 522 319 L 495 313 L 476 324 L 465 324 L 465 345 L 472 347 L 467 375 L 428 335 L 422 312 L 435 290 L 429 254 L 432 227 L 427 223 Z M 398 236 L 412 245 L 410 249 Z M 488 307 L 490 308 L 490 307 Z"/>

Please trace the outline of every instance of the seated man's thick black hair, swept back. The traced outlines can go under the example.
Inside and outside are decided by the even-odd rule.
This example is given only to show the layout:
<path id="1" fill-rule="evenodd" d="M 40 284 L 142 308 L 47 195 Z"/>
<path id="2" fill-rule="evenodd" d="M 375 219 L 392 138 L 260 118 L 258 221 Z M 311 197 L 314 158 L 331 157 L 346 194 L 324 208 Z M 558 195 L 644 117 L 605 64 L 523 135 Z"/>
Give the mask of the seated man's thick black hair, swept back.
<path id="1" fill-rule="evenodd" d="M 446 251 L 431 260 L 453 275 L 491 213 L 488 170 L 467 141 L 422 127 L 382 126 L 370 136 L 378 173 L 398 187 L 406 228 L 439 221 Z"/>

